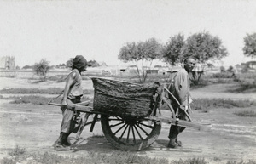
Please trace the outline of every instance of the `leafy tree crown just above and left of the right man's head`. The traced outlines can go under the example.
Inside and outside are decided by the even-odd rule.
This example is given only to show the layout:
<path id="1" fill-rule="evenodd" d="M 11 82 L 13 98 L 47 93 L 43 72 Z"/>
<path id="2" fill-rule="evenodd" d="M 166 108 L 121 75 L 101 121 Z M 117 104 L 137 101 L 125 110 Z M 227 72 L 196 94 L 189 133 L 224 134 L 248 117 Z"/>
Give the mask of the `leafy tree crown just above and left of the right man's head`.
<path id="1" fill-rule="evenodd" d="M 183 59 L 183 47 L 185 45 L 184 36 L 177 34 L 177 36 L 170 37 L 169 42 L 163 48 L 163 59 L 166 63 L 175 65 L 180 63 Z"/>

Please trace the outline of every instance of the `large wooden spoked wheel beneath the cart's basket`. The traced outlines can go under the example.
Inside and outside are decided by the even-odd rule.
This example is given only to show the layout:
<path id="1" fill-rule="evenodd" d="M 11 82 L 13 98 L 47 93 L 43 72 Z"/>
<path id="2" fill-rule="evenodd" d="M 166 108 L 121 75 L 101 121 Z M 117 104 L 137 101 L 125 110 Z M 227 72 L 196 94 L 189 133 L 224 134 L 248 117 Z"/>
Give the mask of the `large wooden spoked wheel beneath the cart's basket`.
<path id="1" fill-rule="evenodd" d="M 154 143 L 160 134 L 160 123 L 148 126 L 145 119 L 120 116 L 101 116 L 102 131 L 119 150 L 143 150 Z"/>

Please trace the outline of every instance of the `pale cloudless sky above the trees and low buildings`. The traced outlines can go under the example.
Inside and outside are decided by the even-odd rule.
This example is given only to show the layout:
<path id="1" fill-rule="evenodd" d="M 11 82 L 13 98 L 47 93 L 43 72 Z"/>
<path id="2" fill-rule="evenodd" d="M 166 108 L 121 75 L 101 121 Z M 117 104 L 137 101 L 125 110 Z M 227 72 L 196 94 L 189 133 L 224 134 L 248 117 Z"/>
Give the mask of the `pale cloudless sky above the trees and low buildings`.
<path id="1" fill-rule="evenodd" d="M 162 44 L 182 33 L 218 36 L 229 56 L 220 65 L 250 58 L 243 38 L 256 32 L 255 0 L 13 0 L 0 1 L 0 57 L 20 67 L 46 59 L 66 63 L 75 55 L 120 65 L 126 42 L 154 37 Z"/>

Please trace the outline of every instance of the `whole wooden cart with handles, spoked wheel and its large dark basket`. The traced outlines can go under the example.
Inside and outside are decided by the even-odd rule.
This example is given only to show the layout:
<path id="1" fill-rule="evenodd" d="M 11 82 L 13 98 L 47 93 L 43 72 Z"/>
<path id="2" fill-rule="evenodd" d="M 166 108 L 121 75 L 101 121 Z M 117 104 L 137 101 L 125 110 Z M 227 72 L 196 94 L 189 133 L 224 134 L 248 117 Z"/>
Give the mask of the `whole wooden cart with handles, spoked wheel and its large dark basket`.
<path id="1" fill-rule="evenodd" d="M 102 131 L 108 141 L 119 150 L 143 150 L 158 138 L 161 123 L 172 123 L 182 127 L 202 129 L 200 124 L 178 120 L 172 105 L 166 98 L 168 89 L 163 85 L 143 85 L 106 78 L 92 77 L 94 86 L 93 105 L 85 101 L 73 106 L 73 110 L 85 112 L 82 126 L 77 133 L 79 139 L 84 126 L 101 121 Z M 171 93 L 172 94 L 172 93 Z M 160 116 L 160 108 L 166 103 L 172 117 Z M 49 105 L 58 105 L 49 102 Z M 93 116 L 88 122 L 89 116 Z M 188 116 L 189 117 L 189 116 Z M 190 117 L 189 117 L 190 119 Z M 190 120 L 191 121 L 191 120 Z"/>

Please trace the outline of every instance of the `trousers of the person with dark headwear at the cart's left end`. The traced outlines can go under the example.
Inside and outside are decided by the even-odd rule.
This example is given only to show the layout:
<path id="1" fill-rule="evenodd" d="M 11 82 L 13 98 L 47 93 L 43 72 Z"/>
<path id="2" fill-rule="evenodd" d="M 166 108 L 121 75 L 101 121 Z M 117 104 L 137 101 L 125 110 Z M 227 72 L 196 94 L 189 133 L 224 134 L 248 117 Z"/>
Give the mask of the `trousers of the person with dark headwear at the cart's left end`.
<path id="1" fill-rule="evenodd" d="M 80 98 L 76 99 L 67 99 L 67 105 L 72 105 L 80 103 Z M 75 113 L 74 110 L 61 109 L 62 110 L 62 122 L 61 122 L 61 132 L 62 133 L 76 133 L 78 122 L 76 122 L 76 117 L 79 116 L 79 113 Z"/>

